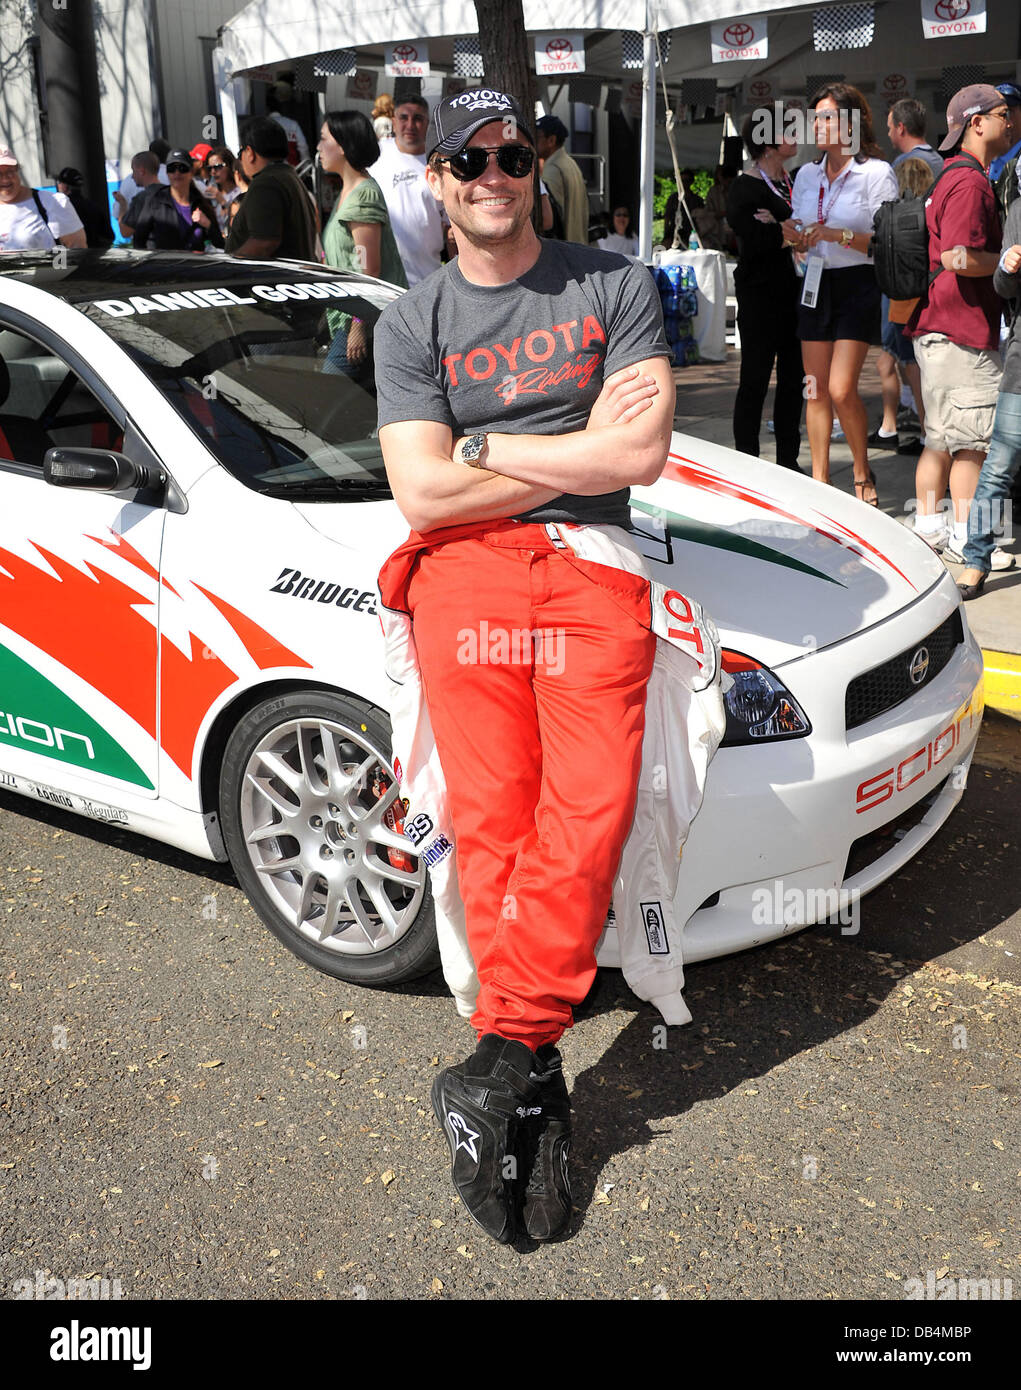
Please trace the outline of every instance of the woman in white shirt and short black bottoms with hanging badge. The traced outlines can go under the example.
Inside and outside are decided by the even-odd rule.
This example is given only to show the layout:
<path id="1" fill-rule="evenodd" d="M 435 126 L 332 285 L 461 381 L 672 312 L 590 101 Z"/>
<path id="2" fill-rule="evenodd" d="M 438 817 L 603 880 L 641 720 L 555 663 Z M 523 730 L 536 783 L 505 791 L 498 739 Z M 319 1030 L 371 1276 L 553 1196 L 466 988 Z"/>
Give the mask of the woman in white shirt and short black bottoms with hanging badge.
<path id="1" fill-rule="evenodd" d="M 881 203 L 897 197 L 897 179 L 872 133 L 872 114 L 857 88 L 831 82 L 813 100 L 822 157 L 797 171 L 793 218 L 810 254 L 797 311 L 806 373 L 806 423 L 813 477 L 829 482 L 829 438 L 836 410 L 854 460 L 854 495 L 879 505 L 868 467 L 868 417 L 858 377 L 879 342 L 879 286 L 868 246 Z"/>

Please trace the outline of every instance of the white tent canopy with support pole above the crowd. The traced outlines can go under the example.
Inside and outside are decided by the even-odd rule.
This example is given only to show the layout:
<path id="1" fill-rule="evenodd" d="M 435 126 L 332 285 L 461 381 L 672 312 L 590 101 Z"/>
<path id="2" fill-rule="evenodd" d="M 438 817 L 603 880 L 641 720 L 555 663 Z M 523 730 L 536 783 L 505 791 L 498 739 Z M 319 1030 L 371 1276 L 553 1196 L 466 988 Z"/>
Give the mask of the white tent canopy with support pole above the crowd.
<path id="1" fill-rule="evenodd" d="M 921 0 L 875 0 L 872 42 L 860 49 L 815 51 L 813 15 L 840 0 L 522 0 L 528 33 L 565 31 L 585 35 L 586 75 L 606 79 L 642 81 L 642 156 L 639 242 L 643 254 L 651 246 L 653 171 L 656 152 L 656 83 L 653 31 L 674 31 L 670 58 L 664 67 L 671 100 L 685 78 L 715 78 L 724 88 L 765 82 L 774 96 L 804 96 L 806 82 L 818 74 L 839 72 L 847 81 L 875 93 L 877 126 L 882 135 L 886 108 L 886 78 L 900 81 L 903 90 L 917 93 L 925 85 L 932 104 L 945 67 L 978 64 L 992 81 L 1017 78 L 1017 0 L 968 0 L 981 4 L 985 28 L 967 32 L 958 25 L 947 38 L 922 36 Z M 943 0 L 947 6 L 950 0 Z M 845 8 L 863 8 L 845 6 Z M 960 8 L 960 4 L 957 6 Z M 967 8 L 967 6 L 965 6 Z M 953 6 L 947 10 L 952 13 Z M 713 63 L 710 25 L 765 15 L 768 56 L 764 58 Z M 383 46 L 404 39 L 429 39 L 433 68 L 453 71 L 453 39 L 476 32 L 472 0 L 253 0 L 221 31 L 217 50 L 217 82 L 228 145 L 236 140 L 233 83 L 238 76 L 267 76 L 274 67 L 297 58 L 339 49 L 356 50 L 363 65 L 379 67 Z M 640 72 L 621 70 L 620 31 L 643 35 Z M 679 31 L 679 32 L 678 32 Z M 964 76 L 963 81 L 975 81 Z M 746 104 L 752 104 L 752 100 Z M 757 101 L 756 101 L 757 104 Z M 738 104 L 735 104 L 738 110 Z M 942 113 L 933 111 L 929 133 L 935 133 Z"/>

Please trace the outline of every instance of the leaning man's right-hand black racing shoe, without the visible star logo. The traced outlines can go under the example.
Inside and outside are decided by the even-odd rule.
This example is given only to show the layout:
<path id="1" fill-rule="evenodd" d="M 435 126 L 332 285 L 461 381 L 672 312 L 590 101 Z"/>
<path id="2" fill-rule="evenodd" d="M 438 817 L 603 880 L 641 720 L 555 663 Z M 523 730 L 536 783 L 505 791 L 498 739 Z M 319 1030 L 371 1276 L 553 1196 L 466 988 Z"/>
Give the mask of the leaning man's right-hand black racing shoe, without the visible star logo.
<path id="1" fill-rule="evenodd" d="M 521 1216 L 532 1240 L 553 1240 L 571 1219 L 571 1101 L 560 1052 L 547 1042 L 536 1054 L 538 1094 L 522 1120 L 526 1183 Z"/>

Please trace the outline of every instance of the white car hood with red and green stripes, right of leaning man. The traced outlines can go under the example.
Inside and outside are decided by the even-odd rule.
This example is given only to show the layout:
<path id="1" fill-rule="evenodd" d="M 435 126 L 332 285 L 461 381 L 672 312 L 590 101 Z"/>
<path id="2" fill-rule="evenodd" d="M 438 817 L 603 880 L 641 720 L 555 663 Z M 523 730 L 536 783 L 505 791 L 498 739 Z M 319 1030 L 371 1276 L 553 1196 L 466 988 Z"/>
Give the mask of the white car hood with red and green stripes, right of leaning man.
<path id="1" fill-rule="evenodd" d="M 632 510 L 647 517 L 656 577 L 704 605 L 724 646 L 767 666 L 872 627 L 947 578 L 877 507 L 690 435 L 672 436 L 663 477 L 632 489 Z"/>

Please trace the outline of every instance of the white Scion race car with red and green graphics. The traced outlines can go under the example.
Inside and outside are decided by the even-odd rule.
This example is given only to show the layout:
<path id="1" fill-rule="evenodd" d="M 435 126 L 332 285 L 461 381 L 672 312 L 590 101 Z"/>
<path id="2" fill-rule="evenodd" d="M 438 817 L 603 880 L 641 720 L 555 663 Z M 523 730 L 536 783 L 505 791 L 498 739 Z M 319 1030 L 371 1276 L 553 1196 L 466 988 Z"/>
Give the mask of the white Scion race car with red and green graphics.
<path id="1" fill-rule="evenodd" d="M 65 260 L 0 259 L 0 785 L 229 859 L 329 974 L 425 973 L 375 612 L 407 535 L 370 350 L 397 292 L 299 263 Z M 674 435 L 632 506 L 733 677 L 675 902 L 696 960 L 831 916 L 935 834 L 982 657 L 932 550 L 832 488 Z"/>

